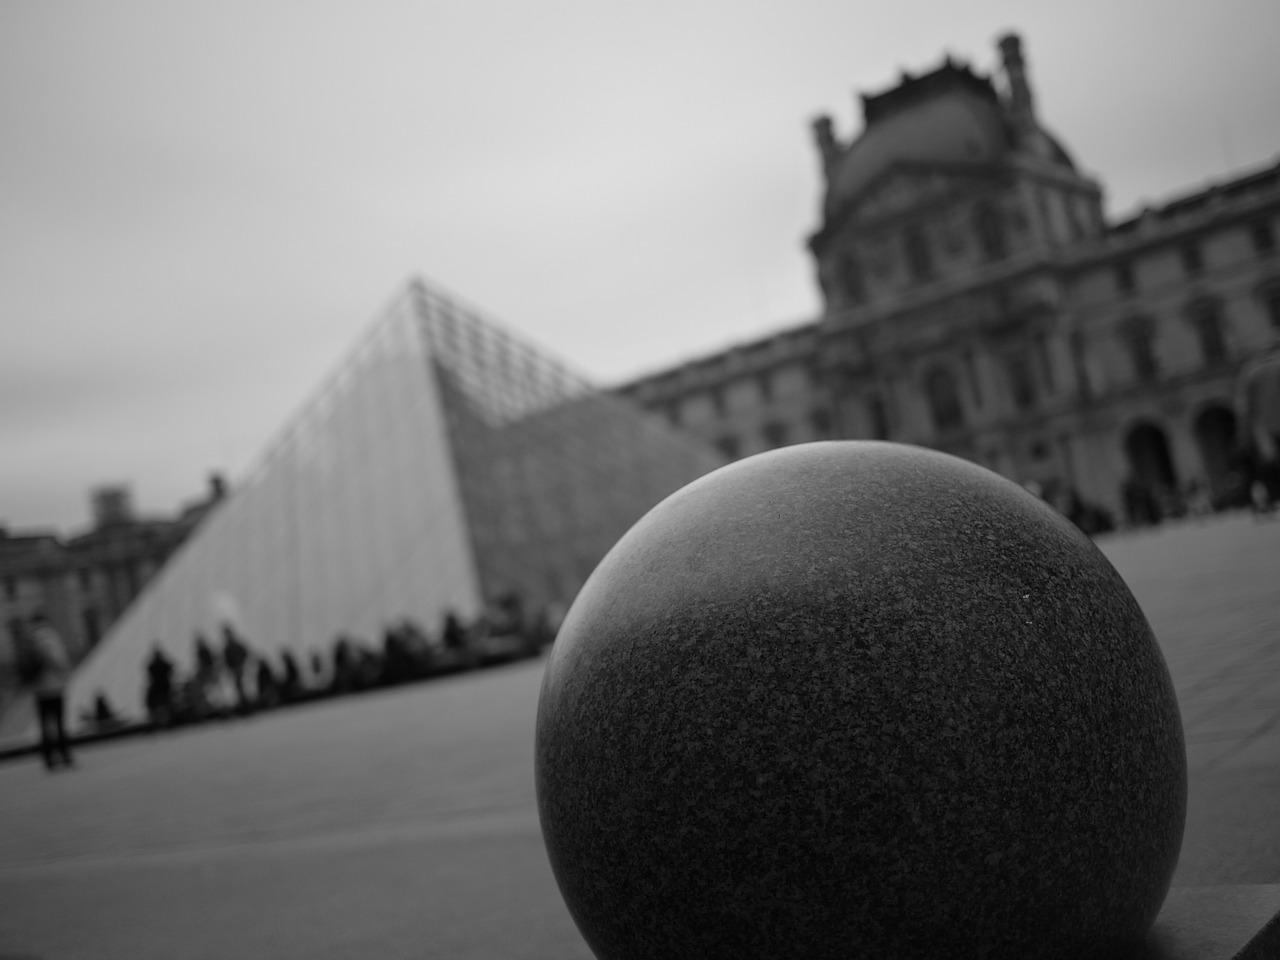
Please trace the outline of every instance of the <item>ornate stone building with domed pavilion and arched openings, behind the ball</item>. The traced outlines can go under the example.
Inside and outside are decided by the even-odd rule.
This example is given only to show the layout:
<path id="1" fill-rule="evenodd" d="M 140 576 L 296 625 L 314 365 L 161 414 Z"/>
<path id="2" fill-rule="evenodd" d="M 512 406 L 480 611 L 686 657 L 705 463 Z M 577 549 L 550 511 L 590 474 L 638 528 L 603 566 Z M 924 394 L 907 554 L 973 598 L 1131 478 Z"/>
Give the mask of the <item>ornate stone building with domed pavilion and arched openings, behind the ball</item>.
<path id="1" fill-rule="evenodd" d="M 998 87 L 948 58 L 850 142 L 814 123 L 815 323 L 620 392 L 733 457 L 881 438 L 1117 515 L 1126 480 L 1225 495 L 1238 372 L 1280 337 L 1280 164 L 1108 223 L 1000 52 Z"/>

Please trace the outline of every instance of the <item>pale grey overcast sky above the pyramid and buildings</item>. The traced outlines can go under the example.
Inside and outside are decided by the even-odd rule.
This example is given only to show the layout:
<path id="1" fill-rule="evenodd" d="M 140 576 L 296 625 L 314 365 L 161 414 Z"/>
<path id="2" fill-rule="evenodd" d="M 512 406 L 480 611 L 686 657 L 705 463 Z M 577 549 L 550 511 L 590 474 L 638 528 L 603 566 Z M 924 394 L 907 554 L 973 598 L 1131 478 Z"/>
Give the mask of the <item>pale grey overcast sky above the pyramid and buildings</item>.
<path id="1" fill-rule="evenodd" d="M 234 483 L 422 274 L 603 384 L 812 319 L 809 120 L 1021 32 L 1124 214 L 1280 155 L 1280 4 L 0 5 L 0 522 Z"/>

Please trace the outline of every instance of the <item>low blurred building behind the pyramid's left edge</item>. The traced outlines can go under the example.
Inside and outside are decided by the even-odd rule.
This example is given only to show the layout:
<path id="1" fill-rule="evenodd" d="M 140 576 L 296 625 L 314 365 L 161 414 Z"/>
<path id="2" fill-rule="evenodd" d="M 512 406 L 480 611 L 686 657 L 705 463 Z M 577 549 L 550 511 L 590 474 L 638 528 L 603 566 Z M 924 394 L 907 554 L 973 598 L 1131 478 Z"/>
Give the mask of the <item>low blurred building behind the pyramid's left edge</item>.
<path id="1" fill-rule="evenodd" d="M 102 486 L 90 494 L 93 525 L 82 534 L 0 527 L 0 687 L 13 684 L 14 643 L 32 613 L 84 655 L 225 492 L 215 474 L 177 517 L 142 518 L 128 488 Z"/>

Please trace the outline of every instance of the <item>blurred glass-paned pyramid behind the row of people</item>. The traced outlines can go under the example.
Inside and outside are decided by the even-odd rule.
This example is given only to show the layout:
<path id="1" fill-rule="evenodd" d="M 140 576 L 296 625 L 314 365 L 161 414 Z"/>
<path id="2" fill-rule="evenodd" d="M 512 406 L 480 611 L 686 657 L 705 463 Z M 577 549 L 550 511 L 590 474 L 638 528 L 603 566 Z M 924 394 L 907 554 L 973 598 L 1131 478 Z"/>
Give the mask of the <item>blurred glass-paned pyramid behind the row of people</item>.
<path id="1" fill-rule="evenodd" d="M 159 645 L 189 676 L 195 637 L 232 623 L 279 672 L 338 635 L 380 646 L 516 595 L 567 604 L 640 516 L 723 460 L 447 296 L 411 284 L 77 671 L 143 713 Z"/>

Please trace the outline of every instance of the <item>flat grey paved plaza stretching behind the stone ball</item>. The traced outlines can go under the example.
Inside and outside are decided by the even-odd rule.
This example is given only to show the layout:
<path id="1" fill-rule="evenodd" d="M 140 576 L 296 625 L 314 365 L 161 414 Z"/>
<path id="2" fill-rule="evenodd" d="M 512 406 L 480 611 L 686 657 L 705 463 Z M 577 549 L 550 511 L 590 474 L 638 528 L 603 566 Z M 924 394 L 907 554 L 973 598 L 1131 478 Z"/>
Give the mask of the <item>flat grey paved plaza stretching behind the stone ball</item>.
<path id="1" fill-rule="evenodd" d="M 1175 884 L 1280 883 L 1280 520 L 1100 545 L 1181 703 Z M 69 773 L 0 764 L 0 960 L 589 957 L 538 829 L 540 675 L 86 746 Z"/>

